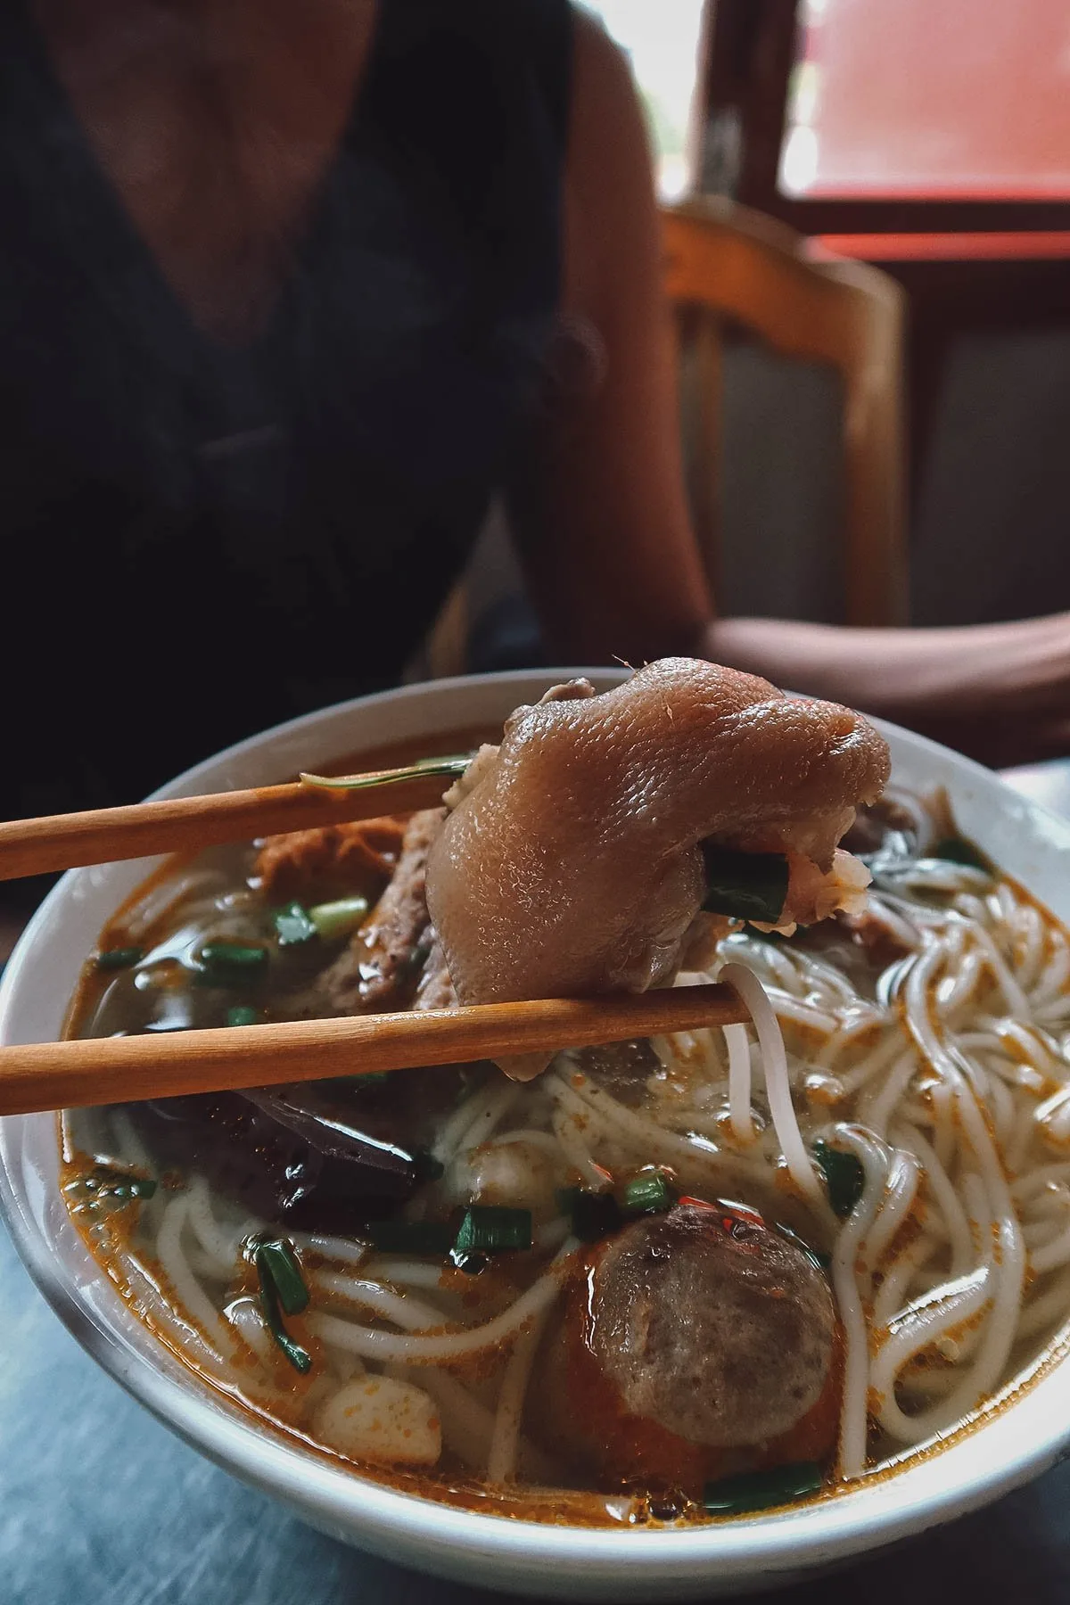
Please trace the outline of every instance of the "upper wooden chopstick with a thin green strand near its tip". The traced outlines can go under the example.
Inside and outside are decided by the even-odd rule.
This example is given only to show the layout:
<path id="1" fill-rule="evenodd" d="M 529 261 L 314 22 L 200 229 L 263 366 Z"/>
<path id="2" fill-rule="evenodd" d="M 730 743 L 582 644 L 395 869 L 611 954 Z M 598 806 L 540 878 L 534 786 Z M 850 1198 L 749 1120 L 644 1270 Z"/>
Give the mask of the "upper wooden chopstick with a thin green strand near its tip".
<path id="1" fill-rule="evenodd" d="M 226 841 L 435 807 L 459 772 L 459 761 L 428 761 L 425 774 L 419 772 L 420 767 L 414 764 L 350 777 L 347 786 L 337 790 L 292 782 L 252 791 L 88 809 L 83 814 L 14 819 L 0 823 L 0 881 L 157 852 L 196 852 Z"/>

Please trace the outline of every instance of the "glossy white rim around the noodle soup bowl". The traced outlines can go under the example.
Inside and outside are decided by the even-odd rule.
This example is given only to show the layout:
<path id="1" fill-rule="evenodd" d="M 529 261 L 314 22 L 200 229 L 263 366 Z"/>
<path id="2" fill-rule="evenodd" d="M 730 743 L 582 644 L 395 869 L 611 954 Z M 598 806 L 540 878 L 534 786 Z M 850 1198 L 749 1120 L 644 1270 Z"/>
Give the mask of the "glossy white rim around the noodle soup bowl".
<path id="1" fill-rule="evenodd" d="M 268 730 L 236 742 L 191 766 L 167 782 L 157 796 L 175 796 L 196 786 L 202 775 L 217 772 L 229 759 L 242 759 L 263 748 L 276 746 L 287 735 L 329 724 L 369 705 L 388 706 L 427 697 L 428 692 L 451 695 L 464 692 L 473 682 L 494 687 L 550 685 L 563 677 L 587 676 L 606 687 L 626 677 L 614 669 L 510 669 L 497 674 L 454 676 L 443 681 L 401 685 L 371 697 L 350 698 L 329 708 L 314 709 L 295 719 L 273 725 Z M 882 733 L 906 738 L 918 751 L 932 751 L 946 761 L 948 750 L 914 732 L 902 730 L 887 721 L 873 719 Z M 1041 817 L 1067 836 L 1067 822 L 1048 809 L 1022 798 L 1006 786 L 991 770 L 983 769 L 961 754 L 950 754 L 954 766 L 967 775 L 983 780 L 987 788 L 998 785 L 1015 798 L 1030 817 Z M 67 872 L 34 913 L 26 931 L 0 977 L 0 1040 L 5 1038 L 8 1014 L 29 963 L 35 937 L 51 918 L 63 888 L 71 876 L 85 872 Z M 30 1117 L 6 1117 L 0 1120 L 0 1146 L 14 1122 Z M 855 1489 L 839 1491 L 834 1497 L 818 1499 L 797 1509 L 772 1514 L 756 1514 L 748 1518 L 711 1522 L 688 1528 L 586 1528 L 534 1522 L 497 1512 L 468 1510 L 427 1499 L 420 1494 L 390 1488 L 367 1478 L 361 1472 L 334 1465 L 314 1451 L 305 1451 L 255 1424 L 252 1416 L 228 1409 L 207 1385 L 189 1387 L 178 1375 L 154 1364 L 148 1353 L 130 1347 L 117 1329 L 96 1311 L 79 1302 L 75 1289 L 59 1276 L 56 1260 L 37 1223 L 26 1213 L 13 1184 L 10 1167 L 0 1164 L 0 1217 L 5 1220 L 14 1247 L 45 1300 L 56 1311 L 67 1331 L 133 1398 L 151 1411 L 164 1425 L 176 1432 L 186 1443 L 205 1454 L 225 1470 L 244 1481 L 295 1505 L 308 1520 L 332 1531 L 335 1536 L 369 1541 L 380 1552 L 409 1563 L 424 1563 L 428 1570 L 435 1557 L 448 1557 L 454 1565 L 465 1560 L 488 1560 L 515 1570 L 513 1583 L 523 1584 L 523 1568 L 541 1565 L 547 1570 L 536 1579 L 549 1584 L 553 1573 L 571 1576 L 579 1584 L 586 1573 L 605 1578 L 626 1570 L 640 1581 L 656 1575 L 658 1579 L 679 1576 L 695 1579 L 706 1568 L 711 1581 L 720 1570 L 762 1573 L 770 1581 L 778 1571 L 794 1571 L 836 1557 L 849 1557 L 898 1538 L 937 1525 L 951 1515 L 964 1514 L 1003 1493 L 1019 1486 L 1052 1464 L 1070 1441 L 1070 1416 L 1065 1424 L 1041 1417 L 1044 1430 L 1012 1444 L 998 1464 L 987 1464 L 983 1456 L 959 1456 L 958 1475 L 943 1485 L 929 1488 L 922 1499 L 902 1497 L 897 1489 L 910 1491 L 913 1462 L 890 1473 L 863 1478 Z M 124 1302 L 114 1290 L 117 1306 Z M 157 1342 L 157 1340 L 154 1340 Z M 1065 1363 L 1054 1367 L 1065 1369 Z M 1022 1400 L 1035 1395 L 1043 1379 L 1023 1390 Z M 1068 1374 L 1070 1385 L 1070 1374 Z M 967 1435 L 975 1441 L 1001 1416 L 1009 1416 L 1019 1401 L 1004 1408 L 991 1420 L 980 1422 Z M 938 1459 L 953 1454 L 959 1444 L 940 1449 Z M 924 1462 L 924 1457 L 921 1457 Z M 889 1497 L 892 1491 L 892 1497 Z M 627 1533 L 627 1539 L 622 1534 Z M 459 1573 L 454 1573 L 459 1575 Z M 505 1571 L 499 1570 L 499 1576 Z"/>

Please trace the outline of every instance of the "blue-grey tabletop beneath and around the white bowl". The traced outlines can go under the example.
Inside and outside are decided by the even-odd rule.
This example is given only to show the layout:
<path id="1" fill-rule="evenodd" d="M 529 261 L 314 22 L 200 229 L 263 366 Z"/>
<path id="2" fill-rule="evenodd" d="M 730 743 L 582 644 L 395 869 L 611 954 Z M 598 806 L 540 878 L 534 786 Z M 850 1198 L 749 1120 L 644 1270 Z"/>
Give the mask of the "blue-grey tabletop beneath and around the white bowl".
<path id="1" fill-rule="evenodd" d="M 1070 814 L 1070 767 L 1011 777 Z M 764 1595 L 772 1599 L 773 1595 Z M 792 1605 L 1070 1599 L 1070 1464 Z M 0 1229 L 0 1605 L 505 1602 L 321 1538 L 201 1459 L 79 1348 Z"/>

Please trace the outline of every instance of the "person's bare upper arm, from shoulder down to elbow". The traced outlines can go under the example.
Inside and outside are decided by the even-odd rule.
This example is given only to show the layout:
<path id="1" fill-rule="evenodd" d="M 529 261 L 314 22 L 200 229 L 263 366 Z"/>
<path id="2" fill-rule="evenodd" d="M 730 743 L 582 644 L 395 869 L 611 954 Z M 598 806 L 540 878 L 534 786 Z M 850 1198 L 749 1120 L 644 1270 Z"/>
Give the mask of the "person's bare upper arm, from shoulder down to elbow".
<path id="1" fill-rule="evenodd" d="M 561 311 L 595 331 L 605 371 L 594 393 L 550 396 L 510 518 L 553 656 L 642 663 L 698 650 L 712 605 L 683 494 L 646 132 L 621 51 L 584 13 L 574 27 Z"/>

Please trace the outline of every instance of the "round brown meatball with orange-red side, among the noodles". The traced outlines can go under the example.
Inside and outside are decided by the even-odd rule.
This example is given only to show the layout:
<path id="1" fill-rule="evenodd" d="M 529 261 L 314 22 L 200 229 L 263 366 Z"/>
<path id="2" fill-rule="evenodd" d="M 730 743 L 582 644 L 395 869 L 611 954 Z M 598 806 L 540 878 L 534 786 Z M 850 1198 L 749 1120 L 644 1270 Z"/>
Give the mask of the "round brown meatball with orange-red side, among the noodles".
<path id="1" fill-rule="evenodd" d="M 547 1359 L 552 1432 L 616 1480 L 821 1459 L 839 1334 L 817 1262 L 740 1205 L 682 1204 L 590 1255 Z"/>

